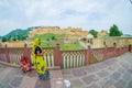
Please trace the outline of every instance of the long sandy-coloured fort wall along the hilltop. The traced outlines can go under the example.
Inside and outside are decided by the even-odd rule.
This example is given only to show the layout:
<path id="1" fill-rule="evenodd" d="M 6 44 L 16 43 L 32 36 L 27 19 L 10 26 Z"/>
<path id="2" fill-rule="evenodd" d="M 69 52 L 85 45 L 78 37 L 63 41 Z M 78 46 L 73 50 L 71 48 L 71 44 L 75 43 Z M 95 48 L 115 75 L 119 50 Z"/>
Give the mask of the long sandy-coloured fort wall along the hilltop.
<path id="1" fill-rule="evenodd" d="M 80 28 L 66 28 L 61 29 L 58 26 L 44 26 L 34 29 L 30 32 L 29 36 L 32 37 L 34 35 L 40 35 L 44 33 L 54 33 L 54 34 L 67 34 L 67 35 L 80 35 L 80 36 L 87 36 L 89 33 L 87 31 L 82 31 Z"/>

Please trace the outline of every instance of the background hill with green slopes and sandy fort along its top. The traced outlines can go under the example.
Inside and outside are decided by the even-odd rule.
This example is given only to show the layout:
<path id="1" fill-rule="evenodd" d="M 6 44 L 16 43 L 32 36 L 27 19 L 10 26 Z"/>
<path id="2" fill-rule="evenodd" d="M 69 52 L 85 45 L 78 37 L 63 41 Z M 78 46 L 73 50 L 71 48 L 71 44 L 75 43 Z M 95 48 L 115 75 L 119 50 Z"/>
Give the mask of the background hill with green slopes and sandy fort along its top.
<path id="1" fill-rule="evenodd" d="M 95 30 L 92 30 L 95 31 Z M 31 26 L 25 30 L 16 29 L 11 31 L 4 36 L 0 36 L 2 42 L 7 41 L 33 41 L 36 36 L 41 37 L 43 41 L 51 41 L 56 38 L 78 38 L 78 37 L 87 37 L 89 34 L 95 34 L 95 32 L 90 33 L 90 31 L 84 31 L 81 28 L 65 28 L 62 29 L 59 26 Z M 98 37 L 109 36 L 107 31 L 98 32 Z M 125 34 L 124 36 L 131 36 Z"/>

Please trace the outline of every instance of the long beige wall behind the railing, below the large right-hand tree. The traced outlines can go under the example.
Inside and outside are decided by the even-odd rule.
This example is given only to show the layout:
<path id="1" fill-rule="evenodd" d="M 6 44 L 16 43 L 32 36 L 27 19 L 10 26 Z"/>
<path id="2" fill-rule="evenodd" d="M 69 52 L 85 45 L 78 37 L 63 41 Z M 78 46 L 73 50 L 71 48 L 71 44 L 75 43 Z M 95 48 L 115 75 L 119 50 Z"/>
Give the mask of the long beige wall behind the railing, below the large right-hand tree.
<path id="1" fill-rule="evenodd" d="M 90 38 L 90 46 L 92 48 L 108 47 L 113 46 L 113 43 L 117 44 L 118 47 L 125 46 L 132 44 L 132 37 L 99 37 L 99 38 Z"/>

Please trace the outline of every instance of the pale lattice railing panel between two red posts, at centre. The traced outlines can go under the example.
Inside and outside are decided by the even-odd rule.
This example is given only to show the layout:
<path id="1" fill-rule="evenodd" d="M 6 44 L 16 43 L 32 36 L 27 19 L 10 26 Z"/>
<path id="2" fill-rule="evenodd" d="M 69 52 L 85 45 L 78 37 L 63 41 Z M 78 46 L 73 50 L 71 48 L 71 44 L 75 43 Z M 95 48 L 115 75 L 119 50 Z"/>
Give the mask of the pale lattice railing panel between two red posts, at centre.
<path id="1" fill-rule="evenodd" d="M 62 51 L 63 67 L 72 68 L 85 65 L 86 51 Z"/>

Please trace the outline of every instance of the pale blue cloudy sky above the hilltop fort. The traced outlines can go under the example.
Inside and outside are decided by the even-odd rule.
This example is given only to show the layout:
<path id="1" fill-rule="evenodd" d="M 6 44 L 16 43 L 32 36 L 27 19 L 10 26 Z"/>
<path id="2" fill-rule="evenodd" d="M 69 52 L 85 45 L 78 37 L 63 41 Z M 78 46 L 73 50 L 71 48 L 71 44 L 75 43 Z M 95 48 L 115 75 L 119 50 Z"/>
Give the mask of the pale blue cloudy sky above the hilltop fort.
<path id="1" fill-rule="evenodd" d="M 0 0 L 0 35 L 40 25 L 109 31 L 112 24 L 132 34 L 130 0 Z"/>

